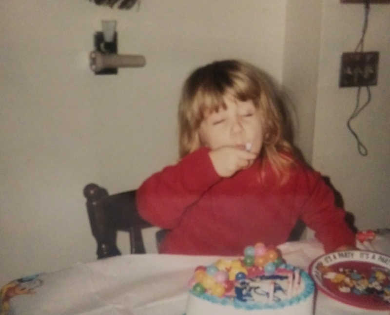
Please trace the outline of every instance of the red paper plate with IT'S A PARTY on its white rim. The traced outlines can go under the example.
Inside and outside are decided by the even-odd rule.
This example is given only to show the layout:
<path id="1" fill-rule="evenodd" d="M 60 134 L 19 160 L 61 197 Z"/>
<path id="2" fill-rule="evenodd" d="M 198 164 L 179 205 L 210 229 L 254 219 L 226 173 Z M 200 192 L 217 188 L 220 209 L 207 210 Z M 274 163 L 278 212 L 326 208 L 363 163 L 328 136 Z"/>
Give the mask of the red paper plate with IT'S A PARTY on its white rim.
<path id="1" fill-rule="evenodd" d="M 317 288 L 367 310 L 390 310 L 390 256 L 369 251 L 331 252 L 309 266 Z"/>

